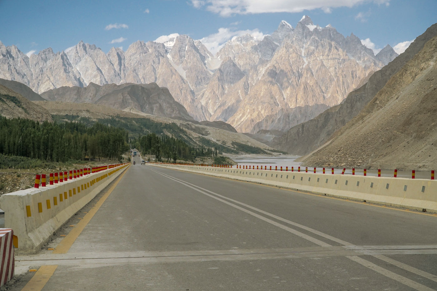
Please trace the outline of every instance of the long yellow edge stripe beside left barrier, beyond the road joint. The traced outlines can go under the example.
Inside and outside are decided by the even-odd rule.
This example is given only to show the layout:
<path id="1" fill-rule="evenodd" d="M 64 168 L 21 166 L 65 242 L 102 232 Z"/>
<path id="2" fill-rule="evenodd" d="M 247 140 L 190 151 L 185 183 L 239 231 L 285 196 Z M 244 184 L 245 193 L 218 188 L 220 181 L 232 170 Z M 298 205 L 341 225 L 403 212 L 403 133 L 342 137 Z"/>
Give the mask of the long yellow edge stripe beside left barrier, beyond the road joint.
<path id="1" fill-rule="evenodd" d="M 88 211 L 88 213 L 80 220 L 80 222 L 76 224 L 76 227 L 71 229 L 69 234 L 64 239 L 62 239 L 62 241 L 58 244 L 58 246 L 56 246 L 55 250 L 52 253 L 67 253 L 69 251 L 70 247 L 76 241 L 77 237 L 83 231 L 85 226 L 87 226 L 88 222 L 90 222 L 91 218 L 93 218 L 94 214 L 96 214 L 97 210 L 99 210 L 106 198 L 108 198 L 109 194 L 111 194 L 115 187 L 117 187 L 118 182 L 120 182 L 121 178 L 123 178 L 123 176 L 127 172 L 127 169 L 117 178 L 117 180 L 115 180 L 114 185 L 109 188 L 108 192 L 106 192 L 99 199 L 99 201 L 97 201 L 95 206 L 91 208 L 91 210 Z"/>

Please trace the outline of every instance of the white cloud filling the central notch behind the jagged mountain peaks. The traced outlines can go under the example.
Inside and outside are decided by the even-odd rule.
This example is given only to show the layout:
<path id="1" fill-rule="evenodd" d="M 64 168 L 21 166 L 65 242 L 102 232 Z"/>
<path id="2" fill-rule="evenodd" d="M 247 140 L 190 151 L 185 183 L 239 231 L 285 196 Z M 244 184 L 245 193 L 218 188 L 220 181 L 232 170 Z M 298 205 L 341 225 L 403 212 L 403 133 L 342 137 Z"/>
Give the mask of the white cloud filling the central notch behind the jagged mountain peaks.
<path id="1" fill-rule="evenodd" d="M 232 29 L 229 28 L 218 28 L 217 33 L 208 35 L 200 39 L 200 41 L 203 43 L 203 45 L 206 46 L 206 48 L 210 52 L 212 52 L 213 55 L 215 55 L 229 39 L 235 36 L 242 36 L 246 34 L 250 34 L 258 39 L 264 38 L 264 34 L 261 31 L 259 31 L 258 28 L 255 28 L 253 30 L 246 29 L 246 30 L 237 30 L 237 31 L 233 31 Z"/>

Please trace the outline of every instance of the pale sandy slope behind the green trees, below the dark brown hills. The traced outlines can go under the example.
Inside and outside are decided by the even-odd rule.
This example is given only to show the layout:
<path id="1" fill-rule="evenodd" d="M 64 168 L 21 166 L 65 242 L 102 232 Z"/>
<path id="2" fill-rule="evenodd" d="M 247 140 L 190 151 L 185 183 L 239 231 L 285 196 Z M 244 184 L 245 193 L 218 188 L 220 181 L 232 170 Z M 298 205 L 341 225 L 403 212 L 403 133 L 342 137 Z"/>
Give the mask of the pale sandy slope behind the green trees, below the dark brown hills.
<path id="1" fill-rule="evenodd" d="M 258 142 L 249 136 L 236 132 L 235 129 L 232 130 L 232 127 L 221 121 L 207 121 L 208 125 L 205 125 L 201 124 L 203 122 L 159 117 L 136 111 L 131 108 L 122 111 L 100 104 L 69 103 L 60 101 L 35 101 L 35 104 L 47 108 L 53 116 L 61 119 L 67 118 L 68 116 L 69 118 L 73 117 L 76 119 L 80 117 L 89 118 L 94 121 L 98 121 L 99 119 L 104 120 L 107 118 L 116 118 L 124 121 L 132 121 L 133 126 L 141 125 L 139 120 L 149 119 L 163 124 L 175 123 L 179 127 L 177 131 L 180 132 L 182 129 L 185 132 L 184 136 L 190 141 L 194 141 L 196 144 L 203 144 L 209 147 L 224 145 L 229 149 L 235 149 L 238 151 L 238 147 L 232 144 L 233 142 L 237 142 L 253 147 L 259 147 L 261 149 L 267 149 L 268 151 L 273 150 L 262 142 Z M 165 126 L 163 128 L 165 128 Z"/>

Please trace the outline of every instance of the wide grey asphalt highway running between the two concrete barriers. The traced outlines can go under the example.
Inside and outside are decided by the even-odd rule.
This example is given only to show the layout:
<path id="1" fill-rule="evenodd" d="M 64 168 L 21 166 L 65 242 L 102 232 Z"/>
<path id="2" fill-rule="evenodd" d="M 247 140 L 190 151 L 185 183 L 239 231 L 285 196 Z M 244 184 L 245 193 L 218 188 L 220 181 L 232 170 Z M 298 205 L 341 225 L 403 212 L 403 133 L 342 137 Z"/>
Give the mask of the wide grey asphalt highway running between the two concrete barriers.
<path id="1" fill-rule="evenodd" d="M 437 289 L 437 215 L 134 160 L 8 290 Z"/>

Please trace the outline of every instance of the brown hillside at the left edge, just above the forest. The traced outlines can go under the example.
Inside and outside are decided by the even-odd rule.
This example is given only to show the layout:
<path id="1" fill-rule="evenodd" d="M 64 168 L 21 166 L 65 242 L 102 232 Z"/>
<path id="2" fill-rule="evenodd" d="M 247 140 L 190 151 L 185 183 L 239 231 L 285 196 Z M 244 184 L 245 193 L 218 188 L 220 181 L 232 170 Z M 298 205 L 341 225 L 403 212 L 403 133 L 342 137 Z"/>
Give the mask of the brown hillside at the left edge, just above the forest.
<path id="1" fill-rule="evenodd" d="M 45 108 L 27 100 L 21 94 L 0 84 L 0 115 L 6 118 L 28 118 L 35 121 L 52 121 Z"/>

